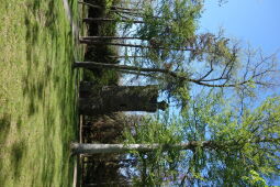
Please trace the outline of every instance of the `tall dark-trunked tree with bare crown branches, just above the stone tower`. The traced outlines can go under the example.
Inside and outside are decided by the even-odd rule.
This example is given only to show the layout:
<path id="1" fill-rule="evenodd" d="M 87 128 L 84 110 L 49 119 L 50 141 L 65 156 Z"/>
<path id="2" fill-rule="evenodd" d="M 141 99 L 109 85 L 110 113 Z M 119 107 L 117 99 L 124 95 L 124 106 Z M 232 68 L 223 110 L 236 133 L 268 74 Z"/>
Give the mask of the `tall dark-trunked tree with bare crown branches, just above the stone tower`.
<path id="1" fill-rule="evenodd" d="M 195 53 L 195 52 L 193 52 Z M 199 53 L 199 52 L 198 52 Z M 236 52 L 237 53 L 237 52 Z M 188 70 L 189 67 L 184 67 L 179 62 L 171 63 L 178 64 L 177 68 L 171 67 L 141 67 L 141 66 L 127 66 L 127 65 L 116 65 L 116 64 L 102 64 L 96 62 L 76 62 L 74 67 L 85 67 L 85 68 L 109 68 L 116 69 L 120 72 L 125 72 L 128 74 L 135 74 L 146 77 L 152 77 L 154 80 L 164 80 L 171 81 L 172 84 L 182 84 L 182 82 L 193 82 L 206 87 L 246 87 L 247 89 L 256 84 L 260 86 L 272 86 L 273 81 L 271 79 L 266 79 L 266 76 L 269 76 L 270 73 L 275 70 L 275 55 L 264 57 L 260 54 L 259 62 L 255 63 L 254 57 L 256 54 L 253 52 L 247 56 L 247 62 L 240 66 L 237 62 L 237 54 L 232 54 L 228 62 L 219 62 L 210 61 L 209 70 L 204 70 L 203 75 L 199 73 L 191 73 Z M 213 58 L 223 58 L 222 56 L 214 56 Z M 240 66 L 240 68 L 237 67 Z M 239 75 L 237 73 L 239 72 Z M 152 75 L 149 74 L 152 73 Z M 190 77 L 191 75 L 194 75 Z M 215 77 L 213 77 L 215 75 Z"/>

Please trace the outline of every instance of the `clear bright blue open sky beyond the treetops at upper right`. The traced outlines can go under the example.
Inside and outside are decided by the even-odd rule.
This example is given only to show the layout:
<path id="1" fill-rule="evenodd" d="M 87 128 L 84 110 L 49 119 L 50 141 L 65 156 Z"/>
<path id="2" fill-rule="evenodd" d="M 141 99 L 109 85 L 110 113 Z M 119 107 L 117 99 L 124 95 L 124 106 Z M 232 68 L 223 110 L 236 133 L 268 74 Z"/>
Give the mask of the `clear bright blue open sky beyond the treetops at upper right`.
<path id="1" fill-rule="evenodd" d="M 217 32 L 223 28 L 226 36 L 260 47 L 266 55 L 280 52 L 280 0 L 228 0 L 222 7 L 217 1 L 205 0 L 200 31 Z M 277 56 L 280 59 L 280 54 Z M 279 88 L 275 91 L 280 94 Z M 280 178 L 271 185 L 280 185 Z"/>

